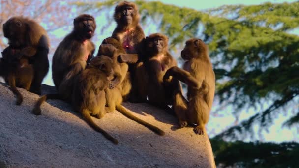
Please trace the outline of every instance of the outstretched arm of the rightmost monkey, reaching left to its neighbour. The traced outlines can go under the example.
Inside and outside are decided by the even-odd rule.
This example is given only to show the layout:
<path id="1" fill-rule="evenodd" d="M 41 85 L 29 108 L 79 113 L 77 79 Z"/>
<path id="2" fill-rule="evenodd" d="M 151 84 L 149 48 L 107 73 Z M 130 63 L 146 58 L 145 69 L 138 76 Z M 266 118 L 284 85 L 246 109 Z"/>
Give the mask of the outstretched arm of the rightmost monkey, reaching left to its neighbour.
<path id="1" fill-rule="evenodd" d="M 177 66 L 170 68 L 164 75 L 163 81 L 167 81 L 170 76 L 177 78 L 179 81 L 187 84 L 190 87 L 200 88 L 203 80 L 196 80 L 188 71 L 180 69 Z"/>

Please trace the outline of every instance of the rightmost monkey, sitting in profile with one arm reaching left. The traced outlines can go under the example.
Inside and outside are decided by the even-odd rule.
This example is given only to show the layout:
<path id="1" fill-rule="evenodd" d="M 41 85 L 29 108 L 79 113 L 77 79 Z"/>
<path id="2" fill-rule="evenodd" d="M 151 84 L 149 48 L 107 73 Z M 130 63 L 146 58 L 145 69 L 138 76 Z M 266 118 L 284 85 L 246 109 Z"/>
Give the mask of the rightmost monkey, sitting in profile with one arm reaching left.
<path id="1" fill-rule="evenodd" d="M 204 134 L 215 94 L 215 73 L 208 50 L 208 46 L 201 39 L 187 40 L 181 51 L 181 57 L 185 60 L 183 69 L 174 66 L 163 77 L 163 80 L 167 81 L 172 76 L 188 85 L 188 100 L 183 100 L 182 95 L 177 94 L 175 112 L 181 127 L 188 123 L 197 124 L 194 132 L 199 135 Z"/>

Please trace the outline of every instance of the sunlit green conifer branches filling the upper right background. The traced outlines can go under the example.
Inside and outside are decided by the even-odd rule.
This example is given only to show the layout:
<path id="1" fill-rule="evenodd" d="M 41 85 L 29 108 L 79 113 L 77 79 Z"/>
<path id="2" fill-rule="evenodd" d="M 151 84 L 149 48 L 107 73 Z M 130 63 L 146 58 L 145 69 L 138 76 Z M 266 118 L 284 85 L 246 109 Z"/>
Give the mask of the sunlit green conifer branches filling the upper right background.
<path id="1" fill-rule="evenodd" d="M 85 10 L 113 8 L 117 0 L 77 4 Z M 191 37 L 209 44 L 217 77 L 216 97 L 222 106 L 233 106 L 238 118 L 246 107 L 269 106 L 229 128 L 217 137 L 244 137 L 254 124 L 267 129 L 282 108 L 299 103 L 299 37 L 290 31 L 299 27 L 299 2 L 221 6 L 197 11 L 137 0 L 143 23 L 151 19 L 170 38 L 171 49 Z M 291 106 L 292 105 L 292 106 Z M 299 121 L 296 114 L 285 122 Z M 289 108 L 290 109 L 290 108 Z"/>

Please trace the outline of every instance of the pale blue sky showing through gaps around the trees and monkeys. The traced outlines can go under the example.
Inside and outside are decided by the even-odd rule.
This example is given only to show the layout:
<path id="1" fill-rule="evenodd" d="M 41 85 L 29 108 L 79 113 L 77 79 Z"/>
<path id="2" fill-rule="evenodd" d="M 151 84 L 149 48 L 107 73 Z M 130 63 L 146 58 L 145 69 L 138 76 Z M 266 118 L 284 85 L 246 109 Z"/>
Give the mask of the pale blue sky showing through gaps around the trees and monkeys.
<path id="1" fill-rule="evenodd" d="M 258 5 L 265 2 L 272 2 L 272 3 L 282 3 L 282 2 L 294 2 L 296 0 L 160 0 L 163 3 L 167 4 L 173 4 L 180 7 L 188 7 L 188 8 L 194 8 L 196 10 L 206 10 L 210 8 L 217 8 L 222 5 L 236 5 L 236 4 L 243 4 L 243 5 Z M 103 20 L 105 20 L 105 16 L 99 14 L 99 16 L 96 16 L 96 22 L 105 24 Z M 113 23 L 110 29 L 106 30 L 105 32 L 101 33 L 97 31 L 96 34 L 96 41 L 94 43 L 96 46 L 99 46 L 101 41 L 110 36 L 115 24 Z M 72 25 L 69 26 L 69 28 L 72 28 Z M 148 28 L 144 28 L 145 33 L 153 33 Z M 63 38 L 67 32 L 58 31 L 55 33 L 55 35 L 59 38 Z M 297 33 L 299 34 L 299 33 Z M 93 38 L 95 40 L 95 38 Z M 57 45 L 57 44 L 56 44 Z M 44 80 L 44 84 L 54 85 L 52 82 L 52 74 L 51 70 L 49 71 L 47 77 Z M 214 103 L 214 106 L 216 103 Z M 207 124 L 206 128 L 209 132 L 209 135 L 214 135 L 215 133 L 221 132 L 224 128 L 227 128 L 231 126 L 231 123 L 235 122 L 235 117 L 233 115 L 228 115 L 227 112 L 230 110 L 230 108 L 226 108 L 226 111 L 218 112 L 218 116 L 211 116 L 209 119 L 209 123 Z M 252 113 L 256 112 L 256 110 L 250 109 L 249 111 L 244 111 L 241 113 L 240 119 L 247 118 L 252 115 Z M 282 141 L 299 141 L 297 137 L 294 135 L 297 135 L 298 128 L 292 128 L 292 129 L 281 129 L 281 124 L 283 123 L 283 120 L 279 118 L 286 118 L 286 116 L 280 115 L 276 118 L 274 121 L 274 124 L 269 127 L 269 131 L 262 132 L 263 138 L 260 140 L 262 141 L 275 141 L 275 142 L 282 142 Z M 255 128 L 256 132 L 258 132 L 258 128 Z"/>

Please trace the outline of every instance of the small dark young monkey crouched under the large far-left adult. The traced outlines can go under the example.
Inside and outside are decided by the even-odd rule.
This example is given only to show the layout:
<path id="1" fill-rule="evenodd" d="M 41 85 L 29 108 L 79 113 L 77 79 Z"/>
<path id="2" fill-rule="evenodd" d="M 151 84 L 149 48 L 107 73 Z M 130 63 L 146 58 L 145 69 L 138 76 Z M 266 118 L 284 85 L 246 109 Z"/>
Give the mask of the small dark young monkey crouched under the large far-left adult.
<path id="1" fill-rule="evenodd" d="M 23 56 L 22 53 L 24 53 L 23 50 L 7 47 L 1 52 L 2 58 L 0 58 L 0 76 L 4 78 L 12 92 L 16 95 L 16 105 L 21 105 L 23 102 L 23 96 L 16 87 L 29 90 L 34 76 L 32 64 L 29 64 L 28 58 Z"/>

